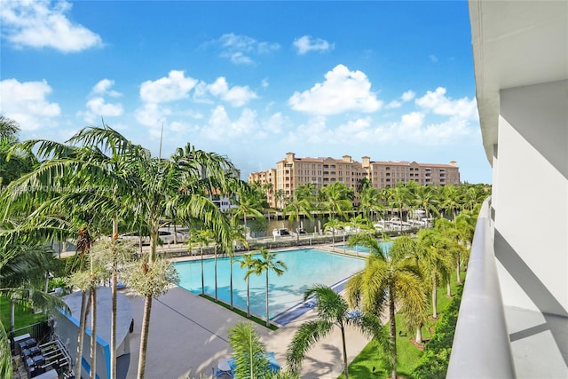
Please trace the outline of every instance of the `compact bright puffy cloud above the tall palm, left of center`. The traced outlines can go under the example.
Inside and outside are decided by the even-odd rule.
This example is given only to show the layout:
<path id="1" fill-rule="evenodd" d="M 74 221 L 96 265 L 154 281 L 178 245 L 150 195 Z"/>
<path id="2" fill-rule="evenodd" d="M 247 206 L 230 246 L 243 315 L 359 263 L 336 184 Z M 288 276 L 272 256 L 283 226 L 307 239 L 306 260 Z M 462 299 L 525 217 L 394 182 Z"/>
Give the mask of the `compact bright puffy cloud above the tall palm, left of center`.
<path id="1" fill-rule="evenodd" d="M 185 99 L 197 82 L 192 77 L 185 77 L 183 71 L 172 70 L 167 77 L 142 83 L 140 98 L 147 103 L 156 104 Z"/>

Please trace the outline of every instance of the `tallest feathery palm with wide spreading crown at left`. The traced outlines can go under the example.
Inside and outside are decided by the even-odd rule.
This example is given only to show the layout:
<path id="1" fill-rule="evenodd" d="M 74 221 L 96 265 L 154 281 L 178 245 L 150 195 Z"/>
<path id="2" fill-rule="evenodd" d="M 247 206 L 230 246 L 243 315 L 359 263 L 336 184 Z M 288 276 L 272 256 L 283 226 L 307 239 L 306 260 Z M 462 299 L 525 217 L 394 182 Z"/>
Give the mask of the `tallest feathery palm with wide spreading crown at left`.
<path id="1" fill-rule="evenodd" d="M 225 191 L 234 172 L 233 164 L 225 157 L 197 150 L 189 144 L 183 149 L 178 148 L 170 160 L 152 157 L 148 150 L 133 145 L 106 125 L 103 128 L 85 128 L 67 143 L 81 146 L 62 146 L 51 141 L 22 144 L 30 150 L 38 144 L 38 152 L 51 155 L 51 159 L 17 180 L 12 191 L 5 196 L 3 193 L 4 201 L 12 201 L 14 195 L 36 201 L 37 193 L 34 196 L 16 193 L 17 185 L 63 184 L 78 188 L 80 191 L 69 196 L 83 197 L 83 202 L 90 204 L 91 211 L 97 211 L 101 217 L 139 214 L 150 232 L 146 272 L 155 272 L 147 268 L 154 265 L 158 228 L 164 215 L 176 214 L 180 219 L 201 220 L 214 231 L 225 250 L 232 249 L 229 221 L 209 200 L 211 188 Z M 106 155 L 105 151 L 110 153 Z M 59 196 L 58 201 L 64 198 Z M 148 275 L 148 280 L 156 280 L 155 275 Z M 141 293 L 149 295 L 143 316 L 138 377 L 143 377 L 145 372 L 152 296 L 161 291 L 144 290 Z"/>

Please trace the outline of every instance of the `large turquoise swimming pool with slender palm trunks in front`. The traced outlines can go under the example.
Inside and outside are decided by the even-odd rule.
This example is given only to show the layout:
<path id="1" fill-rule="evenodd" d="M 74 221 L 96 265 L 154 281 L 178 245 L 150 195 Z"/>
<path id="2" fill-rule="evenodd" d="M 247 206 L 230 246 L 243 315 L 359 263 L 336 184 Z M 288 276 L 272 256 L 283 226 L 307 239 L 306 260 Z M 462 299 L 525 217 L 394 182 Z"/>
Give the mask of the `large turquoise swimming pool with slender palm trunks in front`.
<path id="1" fill-rule="evenodd" d="M 269 312 L 273 320 L 301 303 L 304 292 L 314 284 L 334 286 L 363 269 L 365 260 L 341 254 L 327 253 L 319 249 L 280 251 L 278 260 L 283 261 L 288 271 L 280 277 L 269 272 Z M 179 287 L 194 294 L 201 294 L 201 260 L 174 263 L 179 273 Z M 230 258 L 217 257 L 217 294 L 225 303 L 231 301 Z M 215 296 L 215 260 L 203 260 L 205 293 Z M 233 304 L 247 309 L 247 282 L 245 269 L 233 260 Z M 266 275 L 250 276 L 250 312 L 258 317 L 266 314 Z"/>

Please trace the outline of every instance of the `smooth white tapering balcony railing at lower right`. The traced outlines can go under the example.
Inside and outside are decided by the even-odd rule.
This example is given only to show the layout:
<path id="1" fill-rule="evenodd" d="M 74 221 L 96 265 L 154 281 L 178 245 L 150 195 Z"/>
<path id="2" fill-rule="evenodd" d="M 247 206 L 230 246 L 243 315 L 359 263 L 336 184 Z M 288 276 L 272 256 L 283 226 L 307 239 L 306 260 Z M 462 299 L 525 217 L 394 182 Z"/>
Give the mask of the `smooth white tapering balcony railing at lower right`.
<path id="1" fill-rule="evenodd" d="M 495 265 L 490 217 L 485 200 L 473 238 L 446 378 L 514 378 L 515 365 Z"/>

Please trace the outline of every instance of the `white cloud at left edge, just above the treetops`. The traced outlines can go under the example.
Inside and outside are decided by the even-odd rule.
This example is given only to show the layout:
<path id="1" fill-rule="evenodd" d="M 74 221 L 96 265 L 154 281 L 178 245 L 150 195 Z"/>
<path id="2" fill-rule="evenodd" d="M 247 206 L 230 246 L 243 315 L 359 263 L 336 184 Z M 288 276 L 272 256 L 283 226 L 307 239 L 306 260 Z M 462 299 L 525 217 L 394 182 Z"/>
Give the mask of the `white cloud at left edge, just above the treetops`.
<path id="1" fill-rule="evenodd" d="M 50 85 L 42 82 L 20 83 L 16 79 L 0 82 L 0 113 L 20 123 L 22 130 L 36 130 L 59 116 L 59 104 L 45 99 L 51 93 Z"/>

